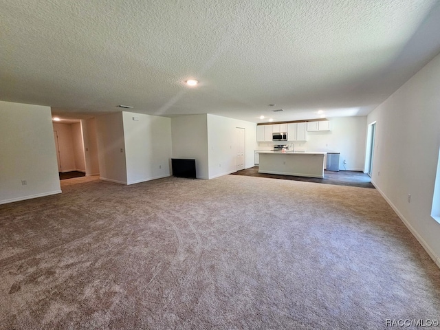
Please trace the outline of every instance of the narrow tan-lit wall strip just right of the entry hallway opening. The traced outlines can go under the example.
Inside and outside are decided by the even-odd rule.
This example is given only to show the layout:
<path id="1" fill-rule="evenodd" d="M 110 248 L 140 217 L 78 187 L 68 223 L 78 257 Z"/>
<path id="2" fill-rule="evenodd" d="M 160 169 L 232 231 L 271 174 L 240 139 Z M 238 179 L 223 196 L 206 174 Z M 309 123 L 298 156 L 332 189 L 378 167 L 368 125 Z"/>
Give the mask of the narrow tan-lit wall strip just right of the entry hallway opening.
<path id="1" fill-rule="evenodd" d="M 81 120 L 84 139 L 85 175 L 99 175 L 98 142 L 95 118 Z"/>

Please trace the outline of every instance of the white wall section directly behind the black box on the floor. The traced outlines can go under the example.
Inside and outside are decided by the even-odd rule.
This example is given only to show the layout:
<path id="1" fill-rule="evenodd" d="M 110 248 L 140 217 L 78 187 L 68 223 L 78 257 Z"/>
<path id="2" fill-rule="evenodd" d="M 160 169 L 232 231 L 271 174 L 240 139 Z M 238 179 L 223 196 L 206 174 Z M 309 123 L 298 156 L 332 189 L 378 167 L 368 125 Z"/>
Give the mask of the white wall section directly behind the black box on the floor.
<path id="1" fill-rule="evenodd" d="M 195 159 L 196 176 L 208 179 L 207 115 L 182 115 L 171 118 L 173 158 Z"/>

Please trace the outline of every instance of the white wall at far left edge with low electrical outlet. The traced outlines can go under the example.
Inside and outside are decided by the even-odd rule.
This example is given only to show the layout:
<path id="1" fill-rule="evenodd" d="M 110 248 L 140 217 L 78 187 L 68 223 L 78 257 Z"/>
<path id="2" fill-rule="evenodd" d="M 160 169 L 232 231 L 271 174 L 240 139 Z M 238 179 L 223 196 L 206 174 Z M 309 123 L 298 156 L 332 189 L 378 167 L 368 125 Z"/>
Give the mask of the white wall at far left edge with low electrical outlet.
<path id="1" fill-rule="evenodd" d="M 0 101 L 0 118 L 0 204 L 60 193 L 50 107 Z"/>

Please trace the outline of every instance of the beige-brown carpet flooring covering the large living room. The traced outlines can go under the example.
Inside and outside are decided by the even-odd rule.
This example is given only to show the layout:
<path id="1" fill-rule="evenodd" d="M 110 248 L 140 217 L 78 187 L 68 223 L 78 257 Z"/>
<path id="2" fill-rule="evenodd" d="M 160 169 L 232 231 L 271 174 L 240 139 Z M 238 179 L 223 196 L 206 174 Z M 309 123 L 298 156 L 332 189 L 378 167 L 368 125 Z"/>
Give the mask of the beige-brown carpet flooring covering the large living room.
<path id="1" fill-rule="evenodd" d="M 239 175 L 61 185 L 0 206 L 0 329 L 440 320 L 440 270 L 375 189 Z"/>

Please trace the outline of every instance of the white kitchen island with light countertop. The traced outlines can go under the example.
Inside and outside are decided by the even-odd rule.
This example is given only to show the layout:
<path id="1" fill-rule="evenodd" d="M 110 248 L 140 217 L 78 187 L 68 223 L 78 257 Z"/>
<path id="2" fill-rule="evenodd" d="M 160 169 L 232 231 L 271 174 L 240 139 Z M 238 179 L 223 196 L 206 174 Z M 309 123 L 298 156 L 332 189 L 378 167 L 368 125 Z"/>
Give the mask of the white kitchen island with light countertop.
<path id="1" fill-rule="evenodd" d="M 325 153 L 260 151 L 259 173 L 324 177 Z"/>

